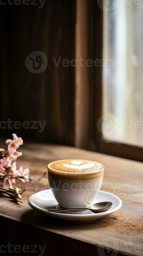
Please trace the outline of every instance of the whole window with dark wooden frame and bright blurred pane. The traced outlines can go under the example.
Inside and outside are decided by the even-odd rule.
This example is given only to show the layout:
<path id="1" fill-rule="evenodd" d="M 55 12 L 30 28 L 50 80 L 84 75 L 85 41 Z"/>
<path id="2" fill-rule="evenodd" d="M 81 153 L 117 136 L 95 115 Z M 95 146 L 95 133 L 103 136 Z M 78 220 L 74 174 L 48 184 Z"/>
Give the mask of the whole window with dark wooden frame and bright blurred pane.
<path id="1" fill-rule="evenodd" d="M 95 2 L 92 56 L 102 60 L 91 75 L 95 150 L 143 161 L 143 3 L 110 1 L 118 3 L 111 10 Z"/>

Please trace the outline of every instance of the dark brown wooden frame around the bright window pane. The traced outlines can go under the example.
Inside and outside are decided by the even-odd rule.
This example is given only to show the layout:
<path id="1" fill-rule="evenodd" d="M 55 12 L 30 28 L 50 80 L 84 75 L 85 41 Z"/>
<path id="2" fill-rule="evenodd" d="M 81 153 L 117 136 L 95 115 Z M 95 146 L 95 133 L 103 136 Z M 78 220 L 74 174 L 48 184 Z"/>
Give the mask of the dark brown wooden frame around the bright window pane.
<path id="1" fill-rule="evenodd" d="M 103 4 L 103 0 L 102 4 Z M 103 11 L 98 7 L 97 1 L 90 1 L 91 10 L 91 45 L 93 59 L 102 60 L 103 52 Z M 97 40 L 98 38 L 98 40 Z M 94 112 L 94 120 L 92 125 L 95 127 L 93 139 L 95 143 L 95 151 L 103 154 L 119 156 L 122 158 L 132 159 L 143 162 L 143 148 L 123 144 L 119 142 L 107 141 L 97 128 L 97 121 L 102 116 L 102 67 L 93 66 L 91 72 L 91 85 L 93 92 L 92 113 Z M 100 130 L 102 123 L 100 122 Z"/>

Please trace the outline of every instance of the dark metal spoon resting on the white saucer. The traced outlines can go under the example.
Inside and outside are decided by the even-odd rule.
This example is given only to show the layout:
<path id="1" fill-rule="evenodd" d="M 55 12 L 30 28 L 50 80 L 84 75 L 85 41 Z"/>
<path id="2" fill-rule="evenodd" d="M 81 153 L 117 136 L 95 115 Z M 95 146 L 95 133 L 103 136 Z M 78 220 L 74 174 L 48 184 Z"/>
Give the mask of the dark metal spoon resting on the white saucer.
<path id="1" fill-rule="evenodd" d="M 48 212 L 90 210 L 91 212 L 99 213 L 99 212 L 108 211 L 112 205 L 113 205 L 113 203 L 111 203 L 111 202 L 100 202 L 100 203 L 94 203 L 94 205 L 91 205 L 89 208 L 53 209 L 53 210 L 48 210 Z"/>

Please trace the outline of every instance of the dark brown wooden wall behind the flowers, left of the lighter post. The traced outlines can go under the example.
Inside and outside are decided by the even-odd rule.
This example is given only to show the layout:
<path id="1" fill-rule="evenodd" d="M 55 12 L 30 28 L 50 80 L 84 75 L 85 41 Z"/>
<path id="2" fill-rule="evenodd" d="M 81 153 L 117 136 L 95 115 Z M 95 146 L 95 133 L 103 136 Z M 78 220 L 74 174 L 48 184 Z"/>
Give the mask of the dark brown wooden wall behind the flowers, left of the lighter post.
<path id="1" fill-rule="evenodd" d="M 38 129 L 0 129 L 0 136 L 15 132 L 24 139 L 74 145 L 74 67 L 55 67 L 75 57 L 75 0 L 46 0 L 37 5 L 1 6 L 0 121 L 40 120 Z M 47 55 L 44 72 L 25 66 L 34 51 Z M 61 60 L 62 60 L 61 59 Z"/>

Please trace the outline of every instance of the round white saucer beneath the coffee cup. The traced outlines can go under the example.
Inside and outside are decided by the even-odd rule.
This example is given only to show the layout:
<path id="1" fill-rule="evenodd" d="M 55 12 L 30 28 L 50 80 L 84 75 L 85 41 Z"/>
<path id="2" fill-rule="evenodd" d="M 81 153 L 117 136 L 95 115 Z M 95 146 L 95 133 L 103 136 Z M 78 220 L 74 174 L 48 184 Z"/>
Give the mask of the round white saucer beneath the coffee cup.
<path id="1" fill-rule="evenodd" d="M 107 216 L 110 213 L 113 213 L 120 209 L 122 206 L 121 199 L 111 193 L 105 191 L 99 191 L 96 202 L 104 202 L 110 201 L 113 203 L 112 207 L 107 212 L 101 213 L 92 213 L 90 210 L 86 211 L 66 211 L 64 213 L 59 212 L 48 212 L 47 210 L 56 209 L 57 208 L 57 201 L 55 200 L 51 189 L 39 191 L 32 196 L 29 197 L 28 203 L 34 209 L 41 213 L 47 214 L 49 217 L 67 220 L 67 221 L 74 221 L 74 222 L 86 222 L 91 221 L 94 219 L 99 219 L 102 217 Z M 94 202 L 95 203 L 95 202 Z"/>

